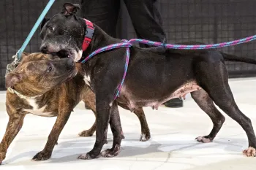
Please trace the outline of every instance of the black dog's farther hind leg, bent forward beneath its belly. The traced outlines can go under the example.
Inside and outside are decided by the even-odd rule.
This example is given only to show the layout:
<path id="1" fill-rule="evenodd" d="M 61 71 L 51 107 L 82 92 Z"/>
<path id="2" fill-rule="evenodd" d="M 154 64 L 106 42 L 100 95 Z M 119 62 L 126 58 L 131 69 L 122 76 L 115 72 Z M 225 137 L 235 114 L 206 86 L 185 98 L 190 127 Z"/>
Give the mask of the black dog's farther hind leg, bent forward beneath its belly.
<path id="1" fill-rule="evenodd" d="M 205 90 L 201 89 L 194 91 L 191 93 L 191 96 L 197 105 L 211 118 L 211 121 L 214 124 L 210 134 L 207 136 L 199 136 L 196 140 L 203 143 L 212 142 L 220 128 L 222 128 L 222 124 L 225 122 L 225 117 L 219 112 L 217 107 L 215 107 L 214 102 Z"/>

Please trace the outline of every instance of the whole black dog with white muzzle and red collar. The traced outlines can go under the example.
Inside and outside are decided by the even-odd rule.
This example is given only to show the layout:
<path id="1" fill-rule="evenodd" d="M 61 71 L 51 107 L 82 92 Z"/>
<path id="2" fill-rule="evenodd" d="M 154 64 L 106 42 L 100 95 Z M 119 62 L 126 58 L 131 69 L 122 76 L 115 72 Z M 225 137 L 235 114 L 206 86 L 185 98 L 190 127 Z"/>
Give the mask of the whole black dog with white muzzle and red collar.
<path id="1" fill-rule="evenodd" d="M 77 52 L 81 50 L 86 32 L 83 19 L 75 16 L 77 10 L 78 7 L 73 4 L 64 4 L 64 10 L 45 23 L 41 32 L 41 38 L 43 39 L 42 52 L 52 53 L 51 49 L 54 45 L 59 50 L 54 51 L 54 53 L 66 51 L 66 55 L 75 58 L 75 61 L 82 57 L 80 55 L 78 57 L 70 55 L 73 50 Z M 49 29 L 49 26 L 53 27 L 54 31 Z M 65 29 L 66 34 L 59 34 L 58 30 L 61 29 Z M 83 34 L 78 36 L 81 33 Z M 53 36 L 59 37 L 61 41 L 56 40 Z M 62 48 L 64 42 L 69 44 L 68 47 L 73 48 Z M 91 45 L 83 52 L 83 56 L 89 55 L 100 47 L 117 42 L 121 42 L 120 39 L 108 36 L 102 29 L 95 26 Z M 198 141 L 211 142 L 225 121 L 225 117 L 214 106 L 215 103 L 244 128 L 249 141 L 249 149 L 244 150 L 244 154 L 254 156 L 256 148 L 255 132 L 249 118 L 238 109 L 234 101 L 228 85 L 225 61 L 256 63 L 255 60 L 238 58 L 220 53 L 217 50 L 168 49 L 165 50 L 165 53 L 154 53 L 152 50 L 131 47 L 126 80 L 121 89 L 120 97 L 113 101 L 116 88 L 124 73 L 125 48 L 110 50 L 94 56 L 83 64 L 83 69 L 86 72 L 86 80 L 96 94 L 96 142 L 93 150 L 80 155 L 79 158 L 99 157 L 106 139 L 108 121 L 115 122 L 111 126 L 113 147 L 110 150 L 103 151 L 102 156 L 113 157 L 118 155 L 121 144 L 121 124 L 118 123 L 120 120 L 117 116 L 116 103 L 123 104 L 132 111 L 145 106 L 157 108 L 159 104 L 170 100 L 170 98 L 184 97 L 187 93 L 192 94 L 192 98 L 198 106 L 211 117 L 214 123 L 211 133 L 208 136 L 198 137 Z"/>

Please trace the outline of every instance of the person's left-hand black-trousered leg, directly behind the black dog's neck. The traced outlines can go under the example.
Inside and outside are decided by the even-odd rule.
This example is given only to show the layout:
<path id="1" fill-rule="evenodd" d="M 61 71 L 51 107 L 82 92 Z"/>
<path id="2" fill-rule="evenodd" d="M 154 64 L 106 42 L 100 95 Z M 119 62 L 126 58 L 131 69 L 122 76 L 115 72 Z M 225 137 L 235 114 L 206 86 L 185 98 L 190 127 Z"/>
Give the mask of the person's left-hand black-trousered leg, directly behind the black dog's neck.
<path id="1" fill-rule="evenodd" d="M 120 0 L 81 0 L 81 17 L 90 20 L 110 36 L 116 37 Z"/>

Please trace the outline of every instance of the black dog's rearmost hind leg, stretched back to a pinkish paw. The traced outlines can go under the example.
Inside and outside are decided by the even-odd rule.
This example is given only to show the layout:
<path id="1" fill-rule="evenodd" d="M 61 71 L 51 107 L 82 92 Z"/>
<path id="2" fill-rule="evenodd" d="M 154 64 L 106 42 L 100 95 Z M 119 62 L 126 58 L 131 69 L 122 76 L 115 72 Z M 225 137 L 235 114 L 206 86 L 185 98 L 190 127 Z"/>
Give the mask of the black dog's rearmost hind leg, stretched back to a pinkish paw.
<path id="1" fill-rule="evenodd" d="M 200 62 L 195 66 L 197 72 L 197 82 L 206 90 L 215 104 L 228 116 L 241 125 L 246 132 L 249 148 L 244 150 L 244 155 L 256 155 L 256 136 L 249 117 L 246 117 L 233 98 L 233 94 L 228 85 L 228 74 L 225 64 L 221 61 Z"/>

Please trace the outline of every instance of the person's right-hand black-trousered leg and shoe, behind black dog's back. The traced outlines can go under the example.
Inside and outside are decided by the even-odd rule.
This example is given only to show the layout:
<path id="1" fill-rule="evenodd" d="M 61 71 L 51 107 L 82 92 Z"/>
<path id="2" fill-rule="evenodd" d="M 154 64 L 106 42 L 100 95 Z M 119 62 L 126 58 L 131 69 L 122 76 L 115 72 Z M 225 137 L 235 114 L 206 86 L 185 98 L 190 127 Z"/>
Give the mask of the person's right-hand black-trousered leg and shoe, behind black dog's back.
<path id="1" fill-rule="evenodd" d="M 163 42 L 166 39 L 162 28 L 162 18 L 155 6 L 156 0 L 124 0 L 132 25 L 140 39 Z M 141 47 L 147 47 L 140 45 Z M 166 107 L 183 107 L 183 101 L 173 98 L 165 102 Z"/>

